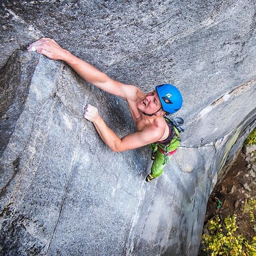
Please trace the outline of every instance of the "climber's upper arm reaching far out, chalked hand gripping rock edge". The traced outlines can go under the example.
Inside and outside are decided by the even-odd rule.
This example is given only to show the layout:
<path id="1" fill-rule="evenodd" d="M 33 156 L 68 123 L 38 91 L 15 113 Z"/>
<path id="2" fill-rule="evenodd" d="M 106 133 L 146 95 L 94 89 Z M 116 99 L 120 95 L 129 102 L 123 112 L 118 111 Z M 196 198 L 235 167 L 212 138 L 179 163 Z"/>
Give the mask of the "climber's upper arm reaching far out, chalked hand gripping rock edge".
<path id="1" fill-rule="evenodd" d="M 30 44 L 28 46 L 28 51 L 37 51 L 52 60 L 63 60 L 89 83 L 126 100 L 136 98 L 138 91 L 140 91 L 136 86 L 122 84 L 111 79 L 94 66 L 61 48 L 50 38 L 41 38 L 40 40 Z"/>

